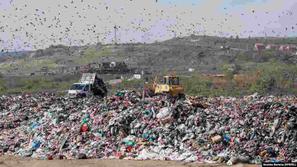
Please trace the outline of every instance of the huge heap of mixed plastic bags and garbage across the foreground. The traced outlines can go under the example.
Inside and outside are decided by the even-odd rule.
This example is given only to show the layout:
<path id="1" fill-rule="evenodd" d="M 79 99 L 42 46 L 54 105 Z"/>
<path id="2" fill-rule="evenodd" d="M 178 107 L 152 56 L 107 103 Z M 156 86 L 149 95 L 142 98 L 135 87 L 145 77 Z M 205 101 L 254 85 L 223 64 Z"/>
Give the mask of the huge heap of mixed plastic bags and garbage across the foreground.
<path id="1" fill-rule="evenodd" d="M 248 163 L 296 160 L 296 97 L 253 94 L 146 102 L 53 94 L 0 98 L 0 152 L 43 159 Z"/>

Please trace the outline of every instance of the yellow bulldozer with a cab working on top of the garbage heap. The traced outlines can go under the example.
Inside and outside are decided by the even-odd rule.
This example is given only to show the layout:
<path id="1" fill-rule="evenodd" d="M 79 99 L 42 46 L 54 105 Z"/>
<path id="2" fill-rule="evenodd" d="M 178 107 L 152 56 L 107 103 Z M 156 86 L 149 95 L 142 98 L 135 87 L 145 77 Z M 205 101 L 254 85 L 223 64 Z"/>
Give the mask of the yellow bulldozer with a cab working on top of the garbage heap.
<path id="1" fill-rule="evenodd" d="M 180 86 L 180 78 L 176 75 L 163 75 L 158 83 L 157 76 L 154 78 L 153 91 L 147 100 L 170 100 L 172 98 L 184 99 L 184 88 Z"/>

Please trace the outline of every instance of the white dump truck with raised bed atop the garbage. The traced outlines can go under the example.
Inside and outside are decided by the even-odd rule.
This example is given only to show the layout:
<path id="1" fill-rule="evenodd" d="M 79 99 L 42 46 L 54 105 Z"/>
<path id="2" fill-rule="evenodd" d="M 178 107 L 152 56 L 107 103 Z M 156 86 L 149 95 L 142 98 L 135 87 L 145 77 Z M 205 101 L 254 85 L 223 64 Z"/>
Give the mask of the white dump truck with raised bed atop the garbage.
<path id="1" fill-rule="evenodd" d="M 106 85 L 97 73 L 83 73 L 78 83 L 73 83 L 68 90 L 68 97 L 90 97 L 92 95 L 105 97 Z"/>

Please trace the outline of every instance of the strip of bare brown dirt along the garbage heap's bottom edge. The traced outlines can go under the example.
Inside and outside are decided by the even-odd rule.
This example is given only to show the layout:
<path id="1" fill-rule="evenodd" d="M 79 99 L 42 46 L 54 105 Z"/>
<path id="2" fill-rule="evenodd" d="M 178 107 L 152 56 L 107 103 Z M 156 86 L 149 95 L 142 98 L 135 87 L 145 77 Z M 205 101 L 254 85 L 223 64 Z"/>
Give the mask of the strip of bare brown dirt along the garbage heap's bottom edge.
<path id="1" fill-rule="evenodd" d="M 222 163 L 182 163 L 157 160 L 40 160 L 3 155 L 0 156 L 0 167 L 228 167 Z M 260 167 L 260 165 L 236 164 L 235 167 Z"/>

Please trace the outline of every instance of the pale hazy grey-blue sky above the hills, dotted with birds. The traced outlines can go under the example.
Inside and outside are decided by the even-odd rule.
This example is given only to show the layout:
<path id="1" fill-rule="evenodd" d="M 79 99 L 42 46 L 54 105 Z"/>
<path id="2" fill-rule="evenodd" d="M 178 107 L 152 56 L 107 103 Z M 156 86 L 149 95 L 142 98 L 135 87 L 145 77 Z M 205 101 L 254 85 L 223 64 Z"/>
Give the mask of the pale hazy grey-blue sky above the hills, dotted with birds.
<path id="1" fill-rule="evenodd" d="M 174 37 L 172 31 L 177 36 L 203 35 L 205 30 L 212 36 L 255 37 L 264 36 L 264 27 L 267 36 L 295 37 L 297 27 L 293 0 L 10 1 L 0 1 L 0 39 L 4 41 L 0 51 L 36 50 L 51 44 L 70 45 L 70 41 L 71 45 L 110 43 L 115 24 L 120 26 L 120 42 L 168 40 Z"/>

